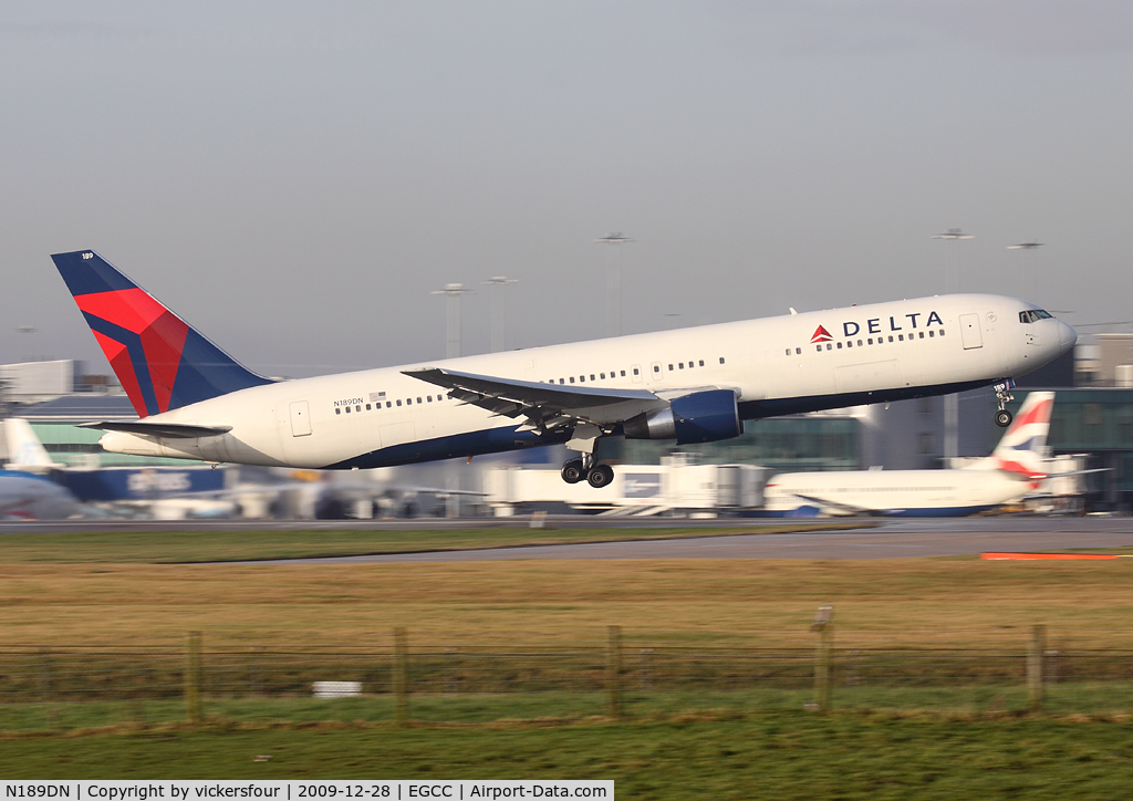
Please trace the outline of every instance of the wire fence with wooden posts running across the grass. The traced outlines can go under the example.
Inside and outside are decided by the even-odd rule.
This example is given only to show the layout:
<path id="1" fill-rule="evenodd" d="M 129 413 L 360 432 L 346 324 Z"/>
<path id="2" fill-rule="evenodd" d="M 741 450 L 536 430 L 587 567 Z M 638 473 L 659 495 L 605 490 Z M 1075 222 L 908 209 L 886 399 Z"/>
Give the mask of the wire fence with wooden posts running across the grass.
<path id="1" fill-rule="evenodd" d="M 1133 648 L 1012 641 L 870 645 L 412 642 L 0 647 L 0 732 L 199 721 L 633 716 L 704 708 L 1133 713 Z M 761 641 L 774 642 L 769 634 Z M 337 682 L 323 684 L 323 682 Z M 322 687 L 322 695 L 315 698 Z M 330 688 L 330 690 L 326 690 Z"/>

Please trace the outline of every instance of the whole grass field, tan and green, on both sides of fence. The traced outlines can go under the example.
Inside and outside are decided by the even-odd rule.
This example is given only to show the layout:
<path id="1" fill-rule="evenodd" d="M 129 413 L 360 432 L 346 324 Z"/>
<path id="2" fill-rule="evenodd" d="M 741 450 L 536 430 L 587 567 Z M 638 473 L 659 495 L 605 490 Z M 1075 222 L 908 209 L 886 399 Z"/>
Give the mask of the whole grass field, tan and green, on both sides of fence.
<path id="1" fill-rule="evenodd" d="M 1133 647 L 1128 560 L 185 564 L 595 534 L 6 536 L 0 647 L 50 647 L 61 667 L 68 646 L 180 654 L 186 632 L 199 630 L 207 665 L 210 648 L 387 649 L 394 627 L 409 629 L 411 653 L 451 644 L 600 647 L 616 623 L 628 655 L 653 645 L 808 648 L 815 608 L 833 603 L 845 654 L 1000 649 L 1019 655 L 1017 678 L 914 685 L 906 672 L 891 684 L 842 681 L 829 716 L 802 711 L 811 695 L 804 685 L 641 692 L 631 684 L 624 722 L 605 717 L 600 691 L 415 695 L 408 728 L 392 726 L 387 696 L 327 704 L 206 695 L 198 727 L 179 723 L 185 708 L 176 698 L 8 702 L 0 705 L 0 775 L 596 777 L 614 778 L 619 796 L 632 799 L 1108 799 L 1133 786 L 1133 682 L 1054 684 L 1045 713 L 1028 715 L 1021 672 L 1036 623 L 1065 654 Z M 254 761 L 259 755 L 272 759 Z"/>

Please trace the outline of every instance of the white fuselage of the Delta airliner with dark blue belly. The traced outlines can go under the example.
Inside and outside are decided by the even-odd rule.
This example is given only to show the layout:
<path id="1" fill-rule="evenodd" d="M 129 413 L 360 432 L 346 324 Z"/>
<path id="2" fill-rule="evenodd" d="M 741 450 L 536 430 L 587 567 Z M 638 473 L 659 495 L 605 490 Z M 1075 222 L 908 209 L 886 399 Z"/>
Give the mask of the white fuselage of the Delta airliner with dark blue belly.
<path id="1" fill-rule="evenodd" d="M 563 442 L 520 431 L 402 374 L 444 367 L 565 386 L 738 393 L 748 419 L 940 394 L 1025 374 L 1071 348 L 1057 319 L 1023 324 L 1014 298 L 955 295 L 470 356 L 240 390 L 146 418 L 230 426 L 222 436 L 111 432 L 109 451 L 304 468 L 381 467 Z"/>

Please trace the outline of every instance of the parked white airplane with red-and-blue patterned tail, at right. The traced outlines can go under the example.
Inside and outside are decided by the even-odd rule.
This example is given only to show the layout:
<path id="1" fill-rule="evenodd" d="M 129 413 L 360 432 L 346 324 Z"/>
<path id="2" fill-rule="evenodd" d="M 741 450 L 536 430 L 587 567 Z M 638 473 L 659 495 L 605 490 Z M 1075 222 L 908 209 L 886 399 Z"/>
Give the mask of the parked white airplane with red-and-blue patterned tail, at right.
<path id="1" fill-rule="evenodd" d="M 960 470 L 784 472 L 764 488 L 764 509 L 773 517 L 961 517 L 1020 501 L 1050 477 L 1042 449 L 1054 403 L 1054 392 L 1030 393 L 991 455 Z"/>

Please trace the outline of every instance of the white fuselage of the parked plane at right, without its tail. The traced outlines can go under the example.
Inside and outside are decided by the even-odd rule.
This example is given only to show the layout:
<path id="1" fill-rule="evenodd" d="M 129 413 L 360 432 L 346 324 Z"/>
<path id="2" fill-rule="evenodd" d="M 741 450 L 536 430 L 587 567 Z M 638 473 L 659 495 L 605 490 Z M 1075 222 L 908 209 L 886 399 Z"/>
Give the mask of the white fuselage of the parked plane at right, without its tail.
<path id="1" fill-rule="evenodd" d="M 1034 482 L 999 470 L 785 472 L 767 482 L 764 509 L 770 514 L 802 506 L 827 514 L 973 514 L 1019 501 L 1036 487 Z"/>

